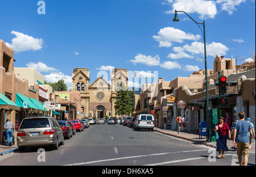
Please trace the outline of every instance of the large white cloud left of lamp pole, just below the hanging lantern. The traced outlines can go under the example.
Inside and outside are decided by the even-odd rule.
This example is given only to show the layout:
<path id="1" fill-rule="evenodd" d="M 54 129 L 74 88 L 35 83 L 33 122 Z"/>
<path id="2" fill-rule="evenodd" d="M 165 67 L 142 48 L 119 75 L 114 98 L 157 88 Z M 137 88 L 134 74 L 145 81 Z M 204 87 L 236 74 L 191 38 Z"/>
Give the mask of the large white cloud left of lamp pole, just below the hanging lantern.
<path id="1" fill-rule="evenodd" d="M 153 36 L 153 39 L 159 42 L 159 47 L 171 47 L 172 42 L 183 43 L 183 40 L 199 40 L 200 35 L 192 35 L 185 33 L 180 29 L 166 27 L 160 29 L 158 36 Z"/>

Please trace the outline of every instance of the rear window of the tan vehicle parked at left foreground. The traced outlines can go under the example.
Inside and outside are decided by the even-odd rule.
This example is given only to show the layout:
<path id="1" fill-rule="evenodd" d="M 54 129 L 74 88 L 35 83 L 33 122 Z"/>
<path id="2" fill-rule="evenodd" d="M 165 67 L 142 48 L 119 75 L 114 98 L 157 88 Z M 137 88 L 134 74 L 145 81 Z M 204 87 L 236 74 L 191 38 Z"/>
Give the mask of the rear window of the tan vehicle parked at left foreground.
<path id="1" fill-rule="evenodd" d="M 50 127 L 48 119 L 34 118 L 34 119 L 24 119 L 20 125 L 20 129 L 25 128 L 46 128 Z"/>

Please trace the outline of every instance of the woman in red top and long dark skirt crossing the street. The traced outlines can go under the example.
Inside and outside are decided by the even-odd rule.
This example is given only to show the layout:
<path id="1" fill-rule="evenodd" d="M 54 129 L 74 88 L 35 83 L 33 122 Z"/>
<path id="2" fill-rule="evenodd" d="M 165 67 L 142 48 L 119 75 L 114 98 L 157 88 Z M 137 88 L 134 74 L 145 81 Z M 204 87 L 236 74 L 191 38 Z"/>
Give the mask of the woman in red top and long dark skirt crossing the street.
<path id="1" fill-rule="evenodd" d="M 218 150 L 218 157 L 221 158 L 221 153 L 222 153 L 222 158 L 225 158 L 224 156 L 224 151 L 228 151 L 228 146 L 226 146 L 226 136 L 227 132 L 229 135 L 229 139 L 231 138 L 230 135 L 230 129 L 228 124 L 224 123 L 224 118 L 223 117 L 218 117 L 218 123 L 215 125 L 216 128 L 214 128 L 214 132 L 218 133 L 218 140 L 217 140 L 217 150 Z"/>

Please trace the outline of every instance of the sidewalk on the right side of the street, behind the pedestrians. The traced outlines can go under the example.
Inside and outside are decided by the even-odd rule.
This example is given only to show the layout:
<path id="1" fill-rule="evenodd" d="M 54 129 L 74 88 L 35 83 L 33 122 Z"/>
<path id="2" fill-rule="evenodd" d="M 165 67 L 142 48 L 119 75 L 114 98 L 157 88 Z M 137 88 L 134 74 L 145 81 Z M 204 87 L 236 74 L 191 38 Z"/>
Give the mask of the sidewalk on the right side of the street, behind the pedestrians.
<path id="1" fill-rule="evenodd" d="M 216 142 L 210 142 L 210 141 L 206 141 L 207 137 L 205 135 L 199 137 L 199 132 L 181 132 L 177 133 L 177 130 L 171 130 L 170 128 L 164 130 L 164 128 L 154 128 L 154 131 L 159 132 L 159 133 L 163 133 L 166 134 L 168 136 L 173 136 L 173 137 L 177 137 L 177 138 L 181 138 L 183 140 L 188 140 L 188 141 L 192 141 L 192 142 L 196 142 L 197 144 L 202 144 L 205 146 L 210 146 L 210 147 L 214 147 L 216 148 Z M 228 148 L 231 150 L 231 146 L 233 146 L 233 140 L 227 140 L 226 142 Z M 251 144 L 251 150 L 250 152 L 255 153 L 255 142 L 253 142 Z"/>

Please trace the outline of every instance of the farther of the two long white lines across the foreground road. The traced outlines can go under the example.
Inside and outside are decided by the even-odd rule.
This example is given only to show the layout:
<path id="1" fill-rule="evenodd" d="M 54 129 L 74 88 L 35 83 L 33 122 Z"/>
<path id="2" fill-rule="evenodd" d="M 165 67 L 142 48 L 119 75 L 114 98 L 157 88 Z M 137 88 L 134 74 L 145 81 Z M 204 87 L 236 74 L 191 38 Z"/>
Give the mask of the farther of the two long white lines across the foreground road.
<path id="1" fill-rule="evenodd" d="M 138 157 L 148 157 L 148 156 L 154 156 L 154 155 L 165 155 L 165 154 L 175 154 L 175 153 L 189 153 L 189 152 L 195 152 L 195 151 L 203 151 L 208 149 L 199 149 L 199 150 L 184 150 L 184 151 L 176 151 L 176 152 L 170 152 L 170 153 L 158 153 L 158 154 L 148 154 L 148 155 L 135 155 L 135 156 L 129 156 L 129 157 L 120 157 L 120 158 L 113 158 L 113 159 L 104 159 L 104 160 L 98 160 L 98 161 L 90 161 L 90 162 L 81 162 L 81 163 L 71 163 L 64 166 L 75 166 L 75 165 L 86 165 L 90 163 L 99 163 L 99 162 L 108 162 L 108 161 L 117 161 L 122 159 L 129 159 L 129 158 L 138 158 Z M 205 158 L 205 157 L 204 157 Z"/>

